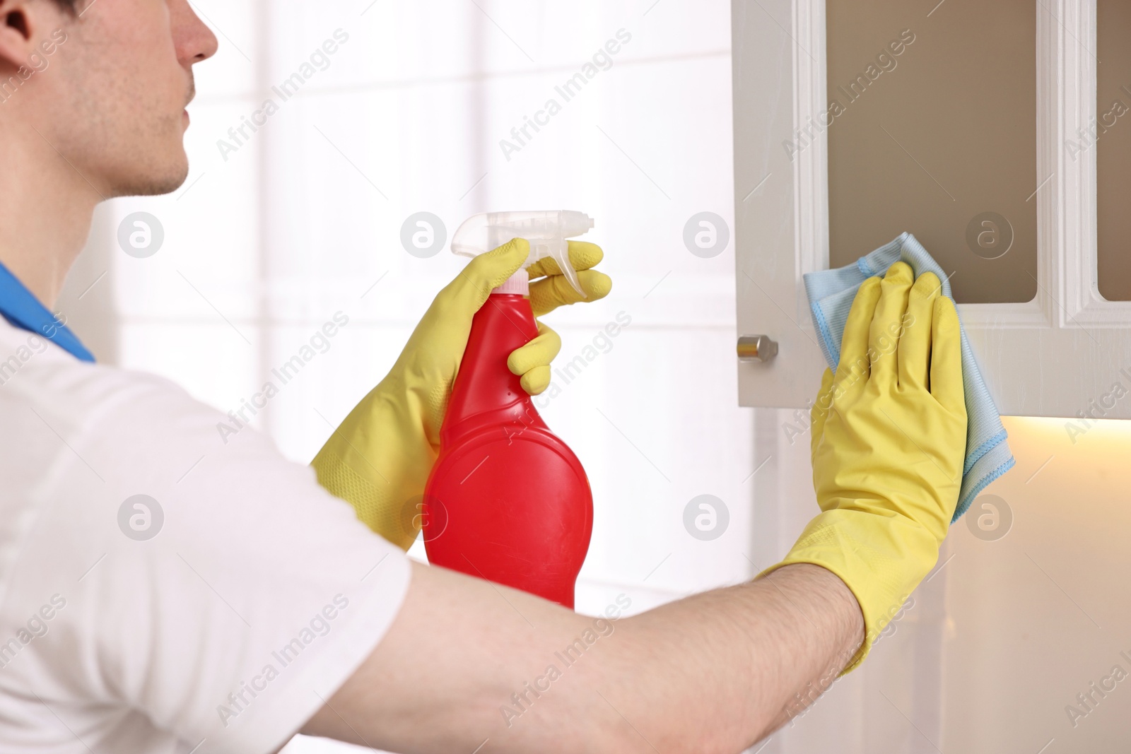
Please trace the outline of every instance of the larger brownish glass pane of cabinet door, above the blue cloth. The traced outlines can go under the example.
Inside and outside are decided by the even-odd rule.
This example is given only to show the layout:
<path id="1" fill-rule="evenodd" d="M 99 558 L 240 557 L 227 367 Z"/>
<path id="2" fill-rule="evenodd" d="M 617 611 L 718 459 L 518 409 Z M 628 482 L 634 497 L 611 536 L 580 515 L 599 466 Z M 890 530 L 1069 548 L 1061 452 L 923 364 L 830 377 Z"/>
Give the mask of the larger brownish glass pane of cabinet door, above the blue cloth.
<path id="1" fill-rule="evenodd" d="M 827 0 L 830 266 L 908 231 L 959 302 L 1031 301 L 1037 3 L 932 6 Z"/>

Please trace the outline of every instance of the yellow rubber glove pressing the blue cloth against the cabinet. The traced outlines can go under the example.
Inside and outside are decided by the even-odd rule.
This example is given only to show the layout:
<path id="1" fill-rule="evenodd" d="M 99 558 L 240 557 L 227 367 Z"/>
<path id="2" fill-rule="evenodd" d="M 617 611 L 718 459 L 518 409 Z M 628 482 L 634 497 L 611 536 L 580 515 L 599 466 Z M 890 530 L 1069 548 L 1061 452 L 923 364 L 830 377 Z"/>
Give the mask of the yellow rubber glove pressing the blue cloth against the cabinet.
<path id="1" fill-rule="evenodd" d="M 961 343 L 953 303 L 927 272 L 896 262 L 856 294 L 836 376 L 812 409 L 813 487 L 822 513 L 786 558 L 848 586 L 867 655 L 934 567 L 958 504 L 966 454 Z"/>

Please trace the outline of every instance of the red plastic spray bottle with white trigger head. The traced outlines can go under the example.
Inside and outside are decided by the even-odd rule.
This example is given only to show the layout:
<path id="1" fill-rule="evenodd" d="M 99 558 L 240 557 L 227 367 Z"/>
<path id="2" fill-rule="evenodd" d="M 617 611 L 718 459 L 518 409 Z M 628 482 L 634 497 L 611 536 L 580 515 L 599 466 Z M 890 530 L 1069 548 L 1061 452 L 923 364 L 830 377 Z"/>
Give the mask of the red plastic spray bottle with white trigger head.
<path id="1" fill-rule="evenodd" d="M 474 257 L 526 239 L 526 266 L 551 257 L 581 292 L 567 239 L 592 227 L 581 213 L 490 213 L 468 218 L 451 250 Z M 507 367 L 510 353 L 537 335 L 528 294 L 520 269 L 472 321 L 424 488 L 424 545 L 434 565 L 572 608 L 593 531 L 593 493 L 577 456 Z"/>

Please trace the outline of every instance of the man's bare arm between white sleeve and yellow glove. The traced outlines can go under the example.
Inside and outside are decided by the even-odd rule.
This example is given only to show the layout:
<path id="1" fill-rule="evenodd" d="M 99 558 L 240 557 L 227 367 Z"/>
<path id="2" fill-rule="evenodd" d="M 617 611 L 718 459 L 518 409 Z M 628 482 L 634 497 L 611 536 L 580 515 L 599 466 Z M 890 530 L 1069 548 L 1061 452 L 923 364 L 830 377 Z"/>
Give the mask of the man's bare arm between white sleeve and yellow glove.
<path id="1" fill-rule="evenodd" d="M 414 569 L 389 634 L 307 733 L 406 754 L 484 742 L 491 752 L 734 754 L 815 699 L 863 640 L 852 592 L 814 565 L 598 633 L 594 618 L 525 592 Z"/>

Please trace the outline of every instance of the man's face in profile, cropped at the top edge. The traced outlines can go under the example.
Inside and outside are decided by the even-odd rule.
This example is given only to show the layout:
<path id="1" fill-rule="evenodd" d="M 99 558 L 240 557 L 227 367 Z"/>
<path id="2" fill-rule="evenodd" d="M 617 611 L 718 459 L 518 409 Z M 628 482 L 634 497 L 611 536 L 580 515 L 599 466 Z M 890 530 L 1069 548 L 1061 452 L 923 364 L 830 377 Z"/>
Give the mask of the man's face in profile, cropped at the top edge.
<path id="1" fill-rule="evenodd" d="M 173 191 L 189 172 L 192 66 L 216 52 L 216 37 L 188 0 L 81 0 L 78 10 L 43 29 L 66 41 L 36 73 L 36 128 L 107 197 Z"/>

